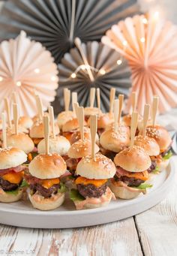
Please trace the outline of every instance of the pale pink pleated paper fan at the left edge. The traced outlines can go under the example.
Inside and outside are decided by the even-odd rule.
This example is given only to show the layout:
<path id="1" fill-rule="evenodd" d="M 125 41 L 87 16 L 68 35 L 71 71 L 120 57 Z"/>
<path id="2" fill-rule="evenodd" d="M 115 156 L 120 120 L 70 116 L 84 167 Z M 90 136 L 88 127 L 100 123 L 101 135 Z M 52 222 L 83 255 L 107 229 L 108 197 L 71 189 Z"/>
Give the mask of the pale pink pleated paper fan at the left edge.
<path id="1" fill-rule="evenodd" d="M 58 87 L 58 69 L 49 51 L 21 32 L 16 39 L 0 44 L 0 113 L 4 109 L 3 99 L 11 100 L 17 92 L 20 114 L 36 114 L 34 91 L 46 108 L 54 101 Z M 12 102 L 12 101 L 11 101 Z"/>

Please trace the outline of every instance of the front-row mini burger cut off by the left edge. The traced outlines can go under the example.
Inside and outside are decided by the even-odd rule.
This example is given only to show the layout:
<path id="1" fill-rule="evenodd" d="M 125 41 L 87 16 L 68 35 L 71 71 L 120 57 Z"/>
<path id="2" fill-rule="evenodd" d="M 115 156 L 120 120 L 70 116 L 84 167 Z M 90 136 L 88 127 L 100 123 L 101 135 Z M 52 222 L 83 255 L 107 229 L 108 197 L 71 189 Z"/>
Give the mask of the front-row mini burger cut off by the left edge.
<path id="1" fill-rule="evenodd" d="M 20 200 L 23 194 L 23 163 L 27 155 L 23 150 L 8 147 L 0 149 L 0 202 Z"/>

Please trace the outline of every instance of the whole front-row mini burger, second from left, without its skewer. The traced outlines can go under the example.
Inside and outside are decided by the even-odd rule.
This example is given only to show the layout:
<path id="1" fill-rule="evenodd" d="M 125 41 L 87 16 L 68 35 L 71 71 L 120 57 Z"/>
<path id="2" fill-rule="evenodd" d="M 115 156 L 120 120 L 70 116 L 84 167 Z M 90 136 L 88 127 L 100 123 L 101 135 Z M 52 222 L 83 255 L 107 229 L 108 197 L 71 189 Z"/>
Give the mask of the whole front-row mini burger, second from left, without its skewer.
<path id="1" fill-rule="evenodd" d="M 55 209 L 65 200 L 65 186 L 60 176 L 66 171 L 66 164 L 58 154 L 37 155 L 28 166 L 28 197 L 34 208 Z"/>

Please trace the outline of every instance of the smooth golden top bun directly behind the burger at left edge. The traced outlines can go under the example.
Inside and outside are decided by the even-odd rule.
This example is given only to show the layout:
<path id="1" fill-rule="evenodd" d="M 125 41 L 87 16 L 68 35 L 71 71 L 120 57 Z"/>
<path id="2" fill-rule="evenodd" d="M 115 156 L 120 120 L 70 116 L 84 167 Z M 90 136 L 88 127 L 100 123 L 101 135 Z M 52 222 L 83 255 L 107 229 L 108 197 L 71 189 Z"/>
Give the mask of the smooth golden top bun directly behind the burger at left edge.
<path id="1" fill-rule="evenodd" d="M 22 149 L 26 154 L 34 149 L 34 143 L 27 134 L 10 134 L 7 136 L 7 146 Z"/>

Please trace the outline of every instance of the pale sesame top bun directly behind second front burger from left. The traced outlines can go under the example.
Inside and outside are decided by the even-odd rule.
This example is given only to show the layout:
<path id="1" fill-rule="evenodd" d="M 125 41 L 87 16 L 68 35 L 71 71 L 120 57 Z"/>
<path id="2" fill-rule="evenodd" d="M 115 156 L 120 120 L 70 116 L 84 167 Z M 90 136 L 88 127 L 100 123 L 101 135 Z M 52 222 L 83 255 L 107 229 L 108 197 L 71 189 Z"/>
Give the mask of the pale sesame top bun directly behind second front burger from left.
<path id="1" fill-rule="evenodd" d="M 53 137 L 49 137 L 49 153 L 56 152 L 58 155 L 65 155 L 71 144 L 69 140 L 67 140 L 63 136 L 57 136 L 55 139 Z M 43 154 L 45 152 L 45 140 L 40 140 L 40 143 L 37 145 L 37 152 L 39 154 Z"/>

